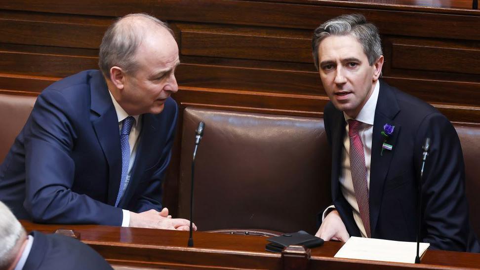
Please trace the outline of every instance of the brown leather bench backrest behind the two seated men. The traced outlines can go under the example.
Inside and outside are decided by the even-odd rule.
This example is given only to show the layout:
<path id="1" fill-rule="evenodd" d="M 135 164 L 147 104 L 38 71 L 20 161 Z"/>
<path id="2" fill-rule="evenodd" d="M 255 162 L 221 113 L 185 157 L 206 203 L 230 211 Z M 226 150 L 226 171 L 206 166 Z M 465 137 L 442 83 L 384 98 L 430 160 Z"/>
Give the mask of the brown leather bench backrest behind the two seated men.
<path id="1" fill-rule="evenodd" d="M 35 100 L 0 94 L 0 162 Z M 202 231 L 315 232 L 317 212 L 331 201 L 331 161 L 322 118 L 185 109 L 178 212 L 187 218 L 199 121 L 206 127 L 196 161 L 194 221 Z M 480 235 L 480 127 L 455 128 L 465 158 L 471 222 Z"/>

